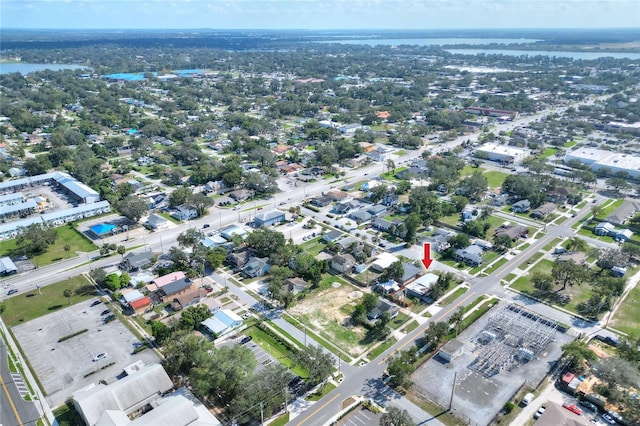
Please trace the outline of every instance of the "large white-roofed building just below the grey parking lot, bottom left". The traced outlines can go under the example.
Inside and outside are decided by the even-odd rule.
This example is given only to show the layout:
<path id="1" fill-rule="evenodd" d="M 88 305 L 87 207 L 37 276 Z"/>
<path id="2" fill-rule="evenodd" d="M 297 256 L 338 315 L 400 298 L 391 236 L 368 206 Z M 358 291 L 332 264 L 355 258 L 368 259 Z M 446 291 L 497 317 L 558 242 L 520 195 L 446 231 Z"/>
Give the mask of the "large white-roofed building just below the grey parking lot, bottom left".
<path id="1" fill-rule="evenodd" d="M 172 388 L 173 383 L 162 365 L 150 364 L 110 385 L 91 384 L 74 392 L 72 397 L 82 419 L 93 426 L 107 410 L 133 413 Z M 122 419 L 122 416 L 115 417 Z"/>

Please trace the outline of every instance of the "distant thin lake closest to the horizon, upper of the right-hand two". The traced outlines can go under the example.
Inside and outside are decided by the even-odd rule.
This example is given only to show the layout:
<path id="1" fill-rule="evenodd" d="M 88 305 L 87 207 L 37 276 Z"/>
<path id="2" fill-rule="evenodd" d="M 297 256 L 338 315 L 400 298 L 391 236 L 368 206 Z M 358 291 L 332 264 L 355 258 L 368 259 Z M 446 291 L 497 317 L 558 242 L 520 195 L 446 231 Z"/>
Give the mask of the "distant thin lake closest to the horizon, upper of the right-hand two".
<path id="1" fill-rule="evenodd" d="M 359 44 L 366 46 L 444 46 L 455 44 L 517 44 L 534 43 L 539 40 L 531 38 L 357 38 L 323 40 L 319 43 Z"/>

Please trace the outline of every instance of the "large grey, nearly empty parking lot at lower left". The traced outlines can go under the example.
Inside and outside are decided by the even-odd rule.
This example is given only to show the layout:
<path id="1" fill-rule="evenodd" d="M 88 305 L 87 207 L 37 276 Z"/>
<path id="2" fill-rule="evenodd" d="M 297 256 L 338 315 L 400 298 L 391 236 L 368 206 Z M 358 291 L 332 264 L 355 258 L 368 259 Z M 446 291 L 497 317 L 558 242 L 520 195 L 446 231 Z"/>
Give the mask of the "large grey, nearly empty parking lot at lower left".
<path id="1" fill-rule="evenodd" d="M 95 300 L 97 298 L 12 329 L 53 407 L 63 404 L 74 391 L 90 383 L 115 381 L 125 366 L 137 360 L 145 364 L 159 361 L 149 349 L 132 355 L 138 339 L 117 319 L 105 323 L 108 314 L 101 313 L 108 307 L 104 303 L 90 306 Z M 85 329 L 87 331 L 82 332 Z M 79 334 L 60 341 L 74 333 Z M 93 361 L 99 354 L 105 354 L 104 358 Z"/>

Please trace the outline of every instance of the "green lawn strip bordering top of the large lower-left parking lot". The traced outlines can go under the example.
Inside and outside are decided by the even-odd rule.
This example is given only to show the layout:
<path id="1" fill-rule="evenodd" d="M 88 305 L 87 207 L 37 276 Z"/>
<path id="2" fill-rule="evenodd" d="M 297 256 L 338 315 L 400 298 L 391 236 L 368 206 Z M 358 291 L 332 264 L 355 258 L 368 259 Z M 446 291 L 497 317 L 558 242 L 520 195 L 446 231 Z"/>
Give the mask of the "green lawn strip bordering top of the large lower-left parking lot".
<path id="1" fill-rule="evenodd" d="M 31 321 L 69 306 L 69 300 L 62 295 L 71 289 L 71 303 L 76 304 L 96 295 L 96 288 L 82 275 L 43 287 L 38 294 L 35 288 L 14 296 L 6 303 L 2 319 L 9 327 Z"/>

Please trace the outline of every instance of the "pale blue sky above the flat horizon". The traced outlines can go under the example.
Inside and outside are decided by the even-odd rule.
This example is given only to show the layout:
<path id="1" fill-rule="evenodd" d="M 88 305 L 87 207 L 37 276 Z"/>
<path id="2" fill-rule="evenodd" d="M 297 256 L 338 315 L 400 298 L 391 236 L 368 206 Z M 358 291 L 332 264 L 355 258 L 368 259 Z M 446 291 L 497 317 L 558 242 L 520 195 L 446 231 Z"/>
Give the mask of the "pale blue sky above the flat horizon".
<path id="1" fill-rule="evenodd" d="M 0 0 L 3 28 L 640 28 L 640 0 Z"/>

